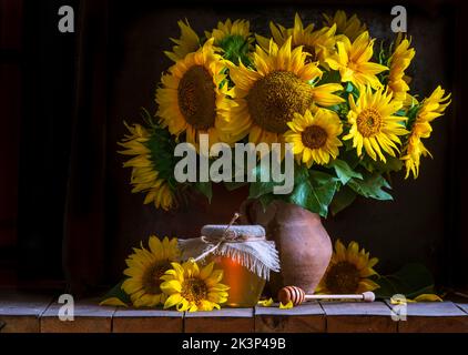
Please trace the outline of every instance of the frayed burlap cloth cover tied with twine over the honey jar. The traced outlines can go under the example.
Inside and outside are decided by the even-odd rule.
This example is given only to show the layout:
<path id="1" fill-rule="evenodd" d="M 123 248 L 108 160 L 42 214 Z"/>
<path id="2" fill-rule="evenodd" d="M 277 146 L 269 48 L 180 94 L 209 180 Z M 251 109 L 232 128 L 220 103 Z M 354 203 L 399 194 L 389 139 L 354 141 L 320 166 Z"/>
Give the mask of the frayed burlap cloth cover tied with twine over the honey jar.
<path id="1" fill-rule="evenodd" d="M 275 242 L 265 239 L 265 229 L 261 225 L 208 224 L 202 227 L 201 235 L 179 240 L 182 258 L 226 256 L 264 280 L 269 280 L 271 271 L 279 272 Z"/>

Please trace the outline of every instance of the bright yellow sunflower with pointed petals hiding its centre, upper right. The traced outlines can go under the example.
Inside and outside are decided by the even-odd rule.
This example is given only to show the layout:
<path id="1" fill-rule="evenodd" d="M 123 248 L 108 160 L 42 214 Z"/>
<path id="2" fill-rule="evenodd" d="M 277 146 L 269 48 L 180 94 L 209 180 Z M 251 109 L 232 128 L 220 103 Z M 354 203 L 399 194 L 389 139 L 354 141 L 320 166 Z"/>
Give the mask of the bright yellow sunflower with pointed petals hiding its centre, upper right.
<path id="1" fill-rule="evenodd" d="M 343 82 L 352 82 L 356 87 L 369 84 L 374 89 L 381 87 L 376 74 L 388 68 L 370 62 L 374 55 L 374 39 L 369 39 L 369 32 L 363 32 L 353 43 L 347 37 L 343 37 L 336 47 L 337 53 L 325 62 L 333 70 L 339 70 Z"/>

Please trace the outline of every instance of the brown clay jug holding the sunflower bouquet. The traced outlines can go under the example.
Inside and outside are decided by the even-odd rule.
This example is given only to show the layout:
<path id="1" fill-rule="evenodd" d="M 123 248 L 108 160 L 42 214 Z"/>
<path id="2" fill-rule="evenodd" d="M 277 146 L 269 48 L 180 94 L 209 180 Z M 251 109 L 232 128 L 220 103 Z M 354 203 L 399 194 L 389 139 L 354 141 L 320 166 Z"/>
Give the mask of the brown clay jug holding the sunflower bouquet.
<path id="1" fill-rule="evenodd" d="M 264 226 L 266 237 L 276 243 L 281 272 L 272 273 L 268 283 L 272 296 L 289 285 L 313 294 L 333 252 L 321 216 L 283 201 L 274 201 L 264 210 L 257 200 L 245 201 L 241 214 L 243 223 Z"/>

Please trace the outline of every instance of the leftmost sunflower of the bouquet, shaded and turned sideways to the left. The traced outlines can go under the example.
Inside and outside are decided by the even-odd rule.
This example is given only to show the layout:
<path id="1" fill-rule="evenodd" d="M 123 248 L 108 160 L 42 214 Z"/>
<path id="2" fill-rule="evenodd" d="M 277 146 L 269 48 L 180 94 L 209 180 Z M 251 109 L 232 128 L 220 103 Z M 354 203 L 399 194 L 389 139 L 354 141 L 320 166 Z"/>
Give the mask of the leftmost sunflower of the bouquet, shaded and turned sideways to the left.
<path id="1" fill-rule="evenodd" d="M 120 151 L 123 155 L 135 155 L 123 164 L 124 168 L 132 168 L 131 184 L 132 193 L 145 192 L 144 204 L 154 203 L 156 209 L 165 211 L 175 205 L 175 195 L 169 183 L 166 174 L 162 174 L 156 169 L 156 159 L 150 144 L 155 141 L 154 133 L 151 133 L 144 126 L 134 124 L 130 126 L 125 123 L 130 134 L 119 144 L 125 148 Z"/>

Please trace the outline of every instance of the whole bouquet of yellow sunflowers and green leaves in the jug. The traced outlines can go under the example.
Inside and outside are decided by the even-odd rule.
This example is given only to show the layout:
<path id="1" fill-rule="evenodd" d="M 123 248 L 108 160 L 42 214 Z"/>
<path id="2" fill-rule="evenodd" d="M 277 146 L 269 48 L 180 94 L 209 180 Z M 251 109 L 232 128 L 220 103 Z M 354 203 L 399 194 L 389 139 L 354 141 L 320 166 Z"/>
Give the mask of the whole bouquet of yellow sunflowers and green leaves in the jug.
<path id="1" fill-rule="evenodd" d="M 440 87 L 425 99 L 410 90 L 406 71 L 415 57 L 399 33 L 379 41 L 356 17 L 324 16 L 322 27 L 271 22 L 271 37 L 252 33 L 245 20 L 218 22 L 204 36 L 187 21 L 165 54 L 174 62 L 156 89 L 155 116 L 128 126 L 120 144 L 132 155 L 133 192 L 144 203 L 175 207 L 187 187 L 212 194 L 211 182 L 174 179 L 180 142 L 293 143 L 294 189 L 275 195 L 275 182 L 250 182 L 250 197 L 275 199 L 326 216 L 357 195 L 391 200 L 386 176 L 416 179 L 431 123 L 449 105 Z M 255 166 L 255 173 L 262 173 Z M 227 183 L 235 189 L 238 183 Z"/>

